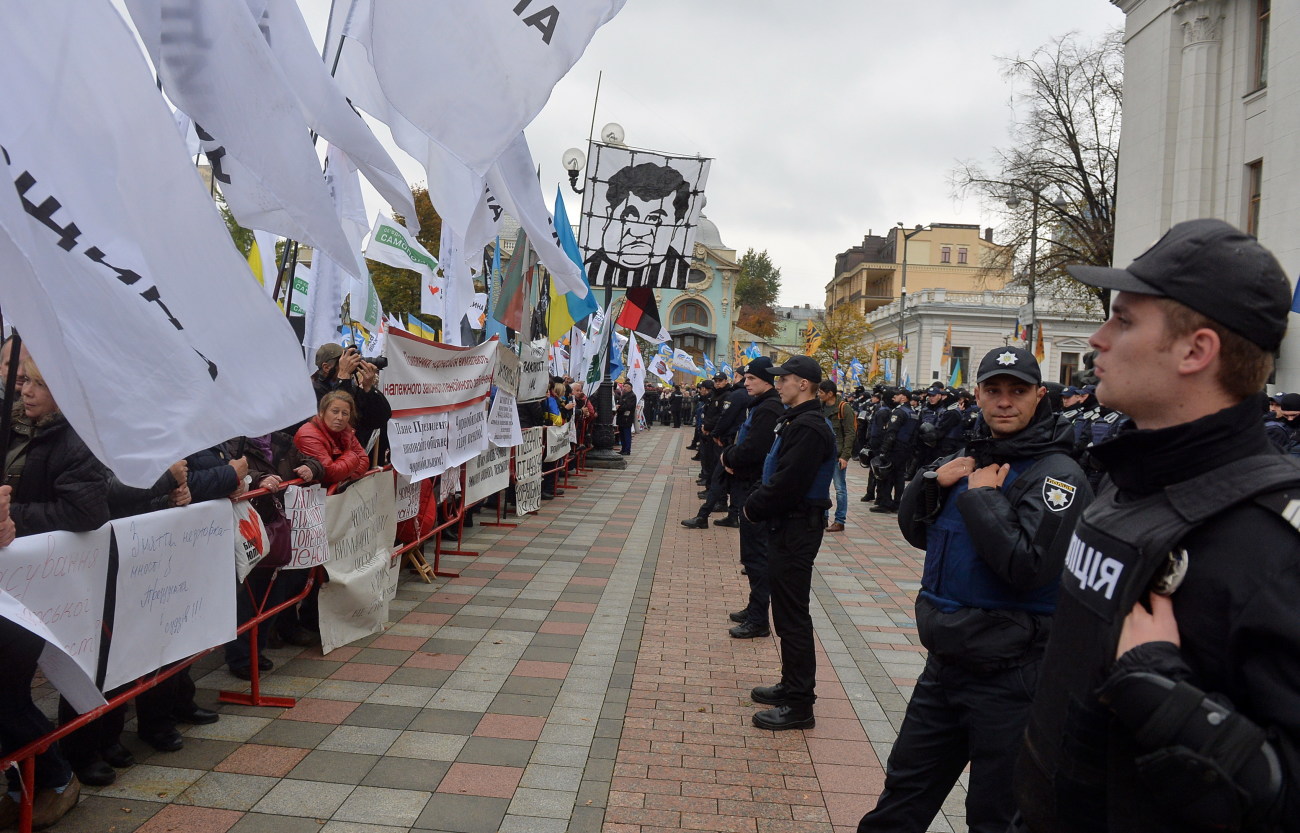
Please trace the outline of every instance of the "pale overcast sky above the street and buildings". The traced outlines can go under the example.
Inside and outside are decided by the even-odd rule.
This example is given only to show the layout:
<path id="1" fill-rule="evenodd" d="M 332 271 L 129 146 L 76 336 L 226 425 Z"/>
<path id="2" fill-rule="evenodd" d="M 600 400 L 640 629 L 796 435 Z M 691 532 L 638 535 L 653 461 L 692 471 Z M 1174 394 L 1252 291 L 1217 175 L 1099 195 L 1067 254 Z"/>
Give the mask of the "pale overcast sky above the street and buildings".
<path id="1" fill-rule="evenodd" d="M 299 3 L 324 29 L 329 0 Z M 628 0 L 528 140 L 550 203 L 556 185 L 568 192 L 560 155 L 585 151 L 603 71 L 595 129 L 618 122 L 629 146 L 712 157 L 705 213 L 723 242 L 767 250 L 781 303 L 819 307 L 835 256 L 868 230 L 996 222 L 954 199 L 950 174 L 1008 143 L 1000 57 L 1122 26 L 1109 0 Z M 578 217 L 580 198 L 567 205 Z"/>

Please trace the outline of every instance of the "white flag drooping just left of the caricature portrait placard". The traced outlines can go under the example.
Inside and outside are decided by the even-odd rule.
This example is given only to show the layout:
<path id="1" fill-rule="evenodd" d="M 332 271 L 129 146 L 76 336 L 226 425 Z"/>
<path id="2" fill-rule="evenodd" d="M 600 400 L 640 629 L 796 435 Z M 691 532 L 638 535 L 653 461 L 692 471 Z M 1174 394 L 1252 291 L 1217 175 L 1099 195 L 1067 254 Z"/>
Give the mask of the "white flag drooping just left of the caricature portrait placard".
<path id="1" fill-rule="evenodd" d="M 524 134 L 515 136 L 493 165 L 488 173 L 488 185 L 506 207 L 506 212 L 524 227 L 528 242 L 551 273 L 555 286 L 562 292 L 576 292 L 578 298 L 584 298 L 590 290 L 582 283 L 578 265 L 566 253 L 555 234 L 555 220 L 542 199 L 542 186 L 537 182 L 533 155 Z"/>

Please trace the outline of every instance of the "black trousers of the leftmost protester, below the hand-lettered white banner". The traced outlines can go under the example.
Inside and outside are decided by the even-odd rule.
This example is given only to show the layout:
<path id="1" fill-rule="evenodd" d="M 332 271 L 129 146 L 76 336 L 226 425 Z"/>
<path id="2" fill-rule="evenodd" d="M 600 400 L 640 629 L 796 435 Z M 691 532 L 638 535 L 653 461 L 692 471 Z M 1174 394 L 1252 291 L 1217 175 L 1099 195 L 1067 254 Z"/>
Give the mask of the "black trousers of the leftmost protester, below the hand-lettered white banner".
<path id="1" fill-rule="evenodd" d="M 22 625 L 0 619 L 0 749 L 16 752 L 27 743 L 53 732 L 55 725 L 31 700 L 31 681 L 46 641 Z M 5 771 L 9 790 L 17 791 L 18 771 Z M 68 760 L 55 743 L 36 755 L 36 789 L 58 788 L 73 777 Z"/>

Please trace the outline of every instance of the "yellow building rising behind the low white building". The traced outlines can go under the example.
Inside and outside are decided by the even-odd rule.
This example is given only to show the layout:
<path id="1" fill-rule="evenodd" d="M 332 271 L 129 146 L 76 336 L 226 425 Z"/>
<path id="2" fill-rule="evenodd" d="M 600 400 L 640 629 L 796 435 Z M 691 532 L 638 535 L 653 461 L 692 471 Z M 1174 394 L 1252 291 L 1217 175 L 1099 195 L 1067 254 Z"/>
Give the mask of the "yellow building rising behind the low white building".
<path id="1" fill-rule="evenodd" d="M 885 237 L 870 231 L 861 246 L 836 255 L 835 278 L 826 285 L 826 309 L 852 304 L 862 314 L 898 300 L 904 291 L 904 253 L 907 256 L 906 291 L 1000 290 L 1011 279 L 1011 259 L 1005 246 L 993 243 L 993 230 L 983 235 L 978 225 L 935 222 L 927 227 L 890 229 Z"/>

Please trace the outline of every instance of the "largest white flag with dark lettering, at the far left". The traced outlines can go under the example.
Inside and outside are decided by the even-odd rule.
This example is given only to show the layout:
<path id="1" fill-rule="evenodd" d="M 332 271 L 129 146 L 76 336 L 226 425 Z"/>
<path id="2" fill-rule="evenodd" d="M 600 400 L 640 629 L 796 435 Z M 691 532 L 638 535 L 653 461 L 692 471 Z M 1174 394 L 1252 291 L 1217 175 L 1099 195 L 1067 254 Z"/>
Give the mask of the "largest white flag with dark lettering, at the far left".
<path id="1" fill-rule="evenodd" d="M 0 305 L 91 451 L 131 486 L 315 411 L 130 30 L 107 3 L 6 4 Z M 247 13 L 247 12 L 244 12 Z M 20 199 L 21 195 L 21 199 Z"/>

